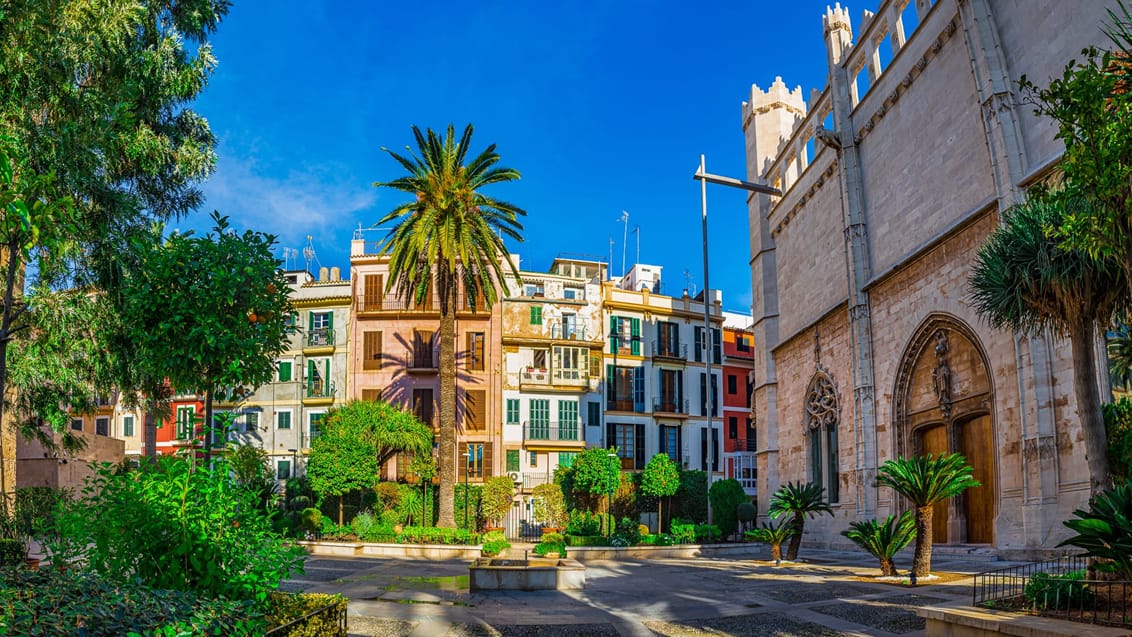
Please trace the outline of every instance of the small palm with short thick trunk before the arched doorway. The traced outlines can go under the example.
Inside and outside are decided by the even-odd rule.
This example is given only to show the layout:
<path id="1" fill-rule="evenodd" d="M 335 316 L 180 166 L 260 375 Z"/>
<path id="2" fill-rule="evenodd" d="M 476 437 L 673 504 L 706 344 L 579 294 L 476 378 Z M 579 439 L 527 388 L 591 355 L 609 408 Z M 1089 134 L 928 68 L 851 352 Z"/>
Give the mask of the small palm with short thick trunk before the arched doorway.
<path id="1" fill-rule="evenodd" d="M 932 575 L 932 508 L 936 502 L 954 498 L 971 487 L 980 487 L 971 477 L 971 466 L 959 454 L 938 457 L 916 456 L 886 460 L 876 470 L 876 483 L 891 487 L 911 502 L 916 511 L 916 553 L 912 574 Z"/>

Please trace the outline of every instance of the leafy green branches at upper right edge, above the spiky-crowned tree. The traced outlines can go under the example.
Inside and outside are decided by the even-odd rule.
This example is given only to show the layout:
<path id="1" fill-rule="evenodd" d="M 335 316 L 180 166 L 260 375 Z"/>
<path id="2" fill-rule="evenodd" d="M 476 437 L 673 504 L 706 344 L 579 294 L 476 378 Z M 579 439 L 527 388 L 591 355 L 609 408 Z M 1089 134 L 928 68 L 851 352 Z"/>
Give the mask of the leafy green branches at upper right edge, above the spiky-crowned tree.
<path id="1" fill-rule="evenodd" d="M 1035 112 L 1057 124 L 1066 192 L 1089 203 L 1049 227 L 1069 247 L 1118 262 L 1132 295 L 1132 15 L 1118 2 L 1108 17 L 1109 48 L 1086 49 L 1046 88 L 1024 76 L 1020 85 Z"/>

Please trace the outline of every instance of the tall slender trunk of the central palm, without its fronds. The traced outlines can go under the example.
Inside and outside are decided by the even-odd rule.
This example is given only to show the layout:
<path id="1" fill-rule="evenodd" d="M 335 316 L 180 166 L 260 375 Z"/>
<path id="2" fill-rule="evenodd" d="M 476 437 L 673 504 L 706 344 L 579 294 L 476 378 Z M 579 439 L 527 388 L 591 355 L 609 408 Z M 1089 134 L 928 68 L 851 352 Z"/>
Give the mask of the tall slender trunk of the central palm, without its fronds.
<path id="1" fill-rule="evenodd" d="M 439 286 L 447 300 L 440 302 L 440 473 L 439 527 L 456 526 L 456 309 L 454 285 Z M 468 520 L 464 520 L 466 524 Z"/>

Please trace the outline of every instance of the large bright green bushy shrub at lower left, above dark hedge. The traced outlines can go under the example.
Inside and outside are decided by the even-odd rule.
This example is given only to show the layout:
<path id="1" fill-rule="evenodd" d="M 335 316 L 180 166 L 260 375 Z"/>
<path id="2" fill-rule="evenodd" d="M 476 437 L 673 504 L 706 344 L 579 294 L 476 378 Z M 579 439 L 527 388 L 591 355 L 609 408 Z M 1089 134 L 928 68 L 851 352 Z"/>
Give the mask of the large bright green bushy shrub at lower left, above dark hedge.
<path id="1" fill-rule="evenodd" d="M 52 561 L 82 560 L 112 584 L 263 600 L 302 569 L 302 548 L 272 531 L 269 514 L 235 488 L 223 457 L 211 467 L 168 457 L 127 472 L 103 464 L 55 524 Z"/>

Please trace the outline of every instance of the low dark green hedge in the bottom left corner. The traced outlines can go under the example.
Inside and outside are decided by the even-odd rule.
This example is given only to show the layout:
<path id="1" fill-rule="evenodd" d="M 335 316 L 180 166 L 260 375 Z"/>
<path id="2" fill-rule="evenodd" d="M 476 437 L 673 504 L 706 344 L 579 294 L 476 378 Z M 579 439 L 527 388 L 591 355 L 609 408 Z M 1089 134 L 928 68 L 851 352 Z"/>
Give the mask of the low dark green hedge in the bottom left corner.
<path id="1" fill-rule="evenodd" d="M 12 570 L 0 577 L 0 634 L 263 635 L 263 611 L 248 600 L 111 582 L 76 569 Z"/>

